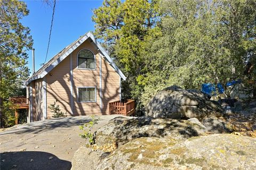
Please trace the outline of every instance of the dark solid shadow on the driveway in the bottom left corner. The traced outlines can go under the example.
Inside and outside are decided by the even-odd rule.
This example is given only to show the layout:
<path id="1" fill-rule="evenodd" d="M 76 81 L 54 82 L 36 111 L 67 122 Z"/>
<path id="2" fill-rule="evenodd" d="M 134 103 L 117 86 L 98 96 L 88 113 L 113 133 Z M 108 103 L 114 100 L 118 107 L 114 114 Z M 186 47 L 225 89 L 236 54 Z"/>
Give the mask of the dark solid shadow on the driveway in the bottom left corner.
<path id="1" fill-rule="evenodd" d="M 70 161 L 61 160 L 47 152 L 22 151 L 0 153 L 1 170 L 5 169 L 70 169 Z M 52 159 L 49 159 L 53 157 Z M 33 159 L 33 160 L 31 160 Z"/>

